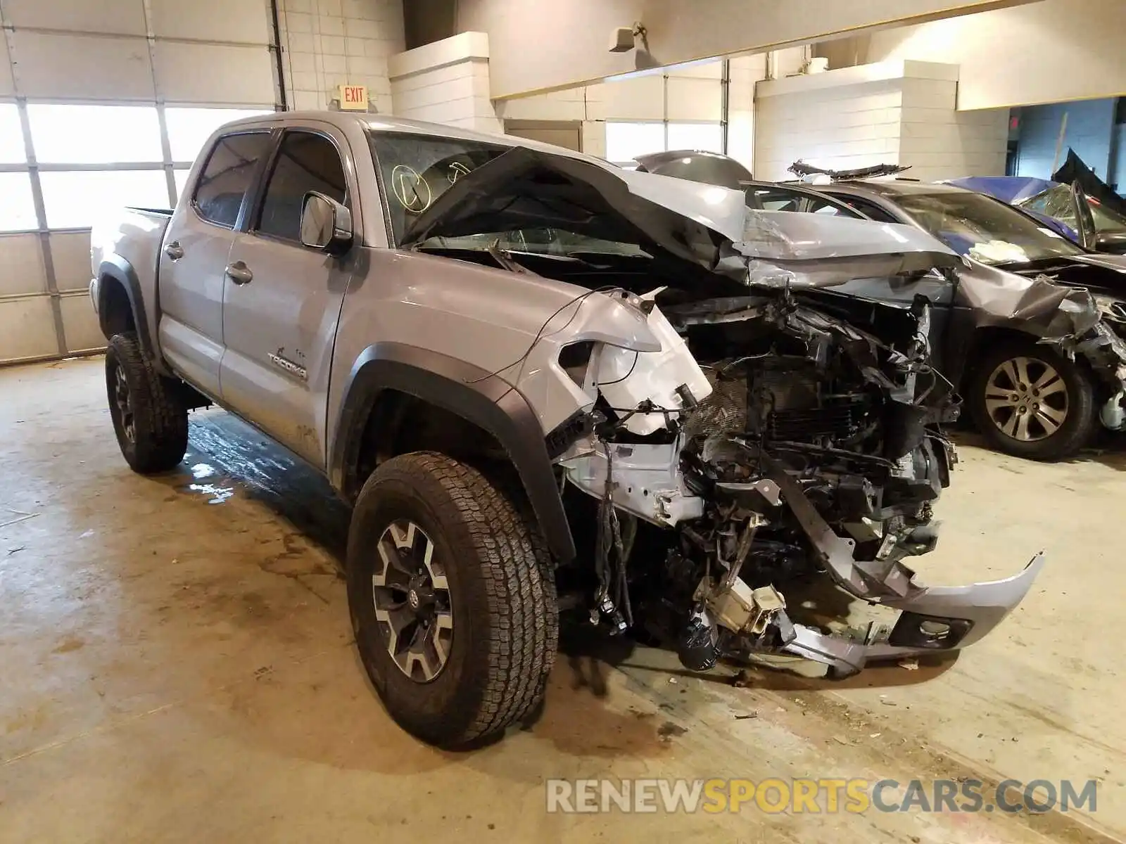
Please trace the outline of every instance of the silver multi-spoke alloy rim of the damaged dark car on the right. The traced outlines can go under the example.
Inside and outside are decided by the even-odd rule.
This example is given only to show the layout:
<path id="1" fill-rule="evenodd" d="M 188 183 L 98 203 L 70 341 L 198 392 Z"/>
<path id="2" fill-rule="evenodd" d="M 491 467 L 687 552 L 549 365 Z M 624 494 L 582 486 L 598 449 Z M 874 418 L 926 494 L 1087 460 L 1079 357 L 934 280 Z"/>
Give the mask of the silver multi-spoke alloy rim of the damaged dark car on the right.
<path id="1" fill-rule="evenodd" d="M 1067 385 L 1051 363 L 1010 358 L 985 381 L 985 411 L 1007 437 L 1020 442 L 1046 440 L 1067 419 Z"/>

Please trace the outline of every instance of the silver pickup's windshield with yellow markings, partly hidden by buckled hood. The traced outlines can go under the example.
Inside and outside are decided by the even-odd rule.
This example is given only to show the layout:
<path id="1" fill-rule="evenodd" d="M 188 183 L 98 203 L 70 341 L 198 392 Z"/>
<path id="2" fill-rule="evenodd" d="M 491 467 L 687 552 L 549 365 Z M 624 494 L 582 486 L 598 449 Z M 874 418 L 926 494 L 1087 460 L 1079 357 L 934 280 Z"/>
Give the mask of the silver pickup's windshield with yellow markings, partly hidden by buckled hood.
<path id="1" fill-rule="evenodd" d="M 395 245 L 403 243 L 414 219 L 458 179 L 511 149 L 484 141 L 406 133 L 372 132 L 369 138 L 386 195 L 387 218 Z M 481 232 L 459 237 L 431 237 L 420 245 L 422 249 L 466 249 L 483 252 L 494 243 L 510 252 L 647 257 L 635 244 L 616 243 L 549 227 Z"/>

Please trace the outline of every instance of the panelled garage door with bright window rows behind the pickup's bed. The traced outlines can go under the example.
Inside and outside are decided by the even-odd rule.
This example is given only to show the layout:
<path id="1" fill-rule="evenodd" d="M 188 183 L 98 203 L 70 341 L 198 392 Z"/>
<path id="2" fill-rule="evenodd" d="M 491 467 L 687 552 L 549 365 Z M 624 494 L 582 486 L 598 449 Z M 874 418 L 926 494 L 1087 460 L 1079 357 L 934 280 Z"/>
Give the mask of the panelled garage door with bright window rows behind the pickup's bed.
<path id="1" fill-rule="evenodd" d="M 105 345 L 90 225 L 175 204 L 218 124 L 275 108 L 267 0 L 0 0 L 0 362 Z"/>

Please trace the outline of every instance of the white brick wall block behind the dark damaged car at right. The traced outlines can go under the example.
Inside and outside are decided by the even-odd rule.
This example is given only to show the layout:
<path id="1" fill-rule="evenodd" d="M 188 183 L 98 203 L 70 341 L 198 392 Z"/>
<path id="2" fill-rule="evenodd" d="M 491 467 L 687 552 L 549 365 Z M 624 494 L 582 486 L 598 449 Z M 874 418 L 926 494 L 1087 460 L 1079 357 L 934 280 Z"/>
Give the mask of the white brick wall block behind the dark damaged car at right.
<path id="1" fill-rule="evenodd" d="M 754 176 L 793 178 L 794 161 L 834 169 L 910 164 L 923 181 L 1004 173 L 1008 109 L 957 111 L 957 69 L 866 65 L 760 82 Z"/>

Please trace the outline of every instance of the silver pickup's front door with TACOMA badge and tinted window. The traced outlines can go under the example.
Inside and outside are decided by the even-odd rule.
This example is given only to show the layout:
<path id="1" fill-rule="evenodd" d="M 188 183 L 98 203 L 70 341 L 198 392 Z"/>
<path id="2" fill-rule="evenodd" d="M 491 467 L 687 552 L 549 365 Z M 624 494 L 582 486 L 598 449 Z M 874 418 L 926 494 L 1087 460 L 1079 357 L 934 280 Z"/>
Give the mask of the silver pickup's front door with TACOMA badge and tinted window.
<path id="1" fill-rule="evenodd" d="M 319 467 L 332 345 L 355 259 L 303 246 L 301 209 L 311 190 L 346 204 L 355 195 L 339 153 L 345 144 L 329 131 L 283 136 L 257 218 L 227 257 L 239 282 L 229 277 L 224 289 L 224 403 Z"/>

